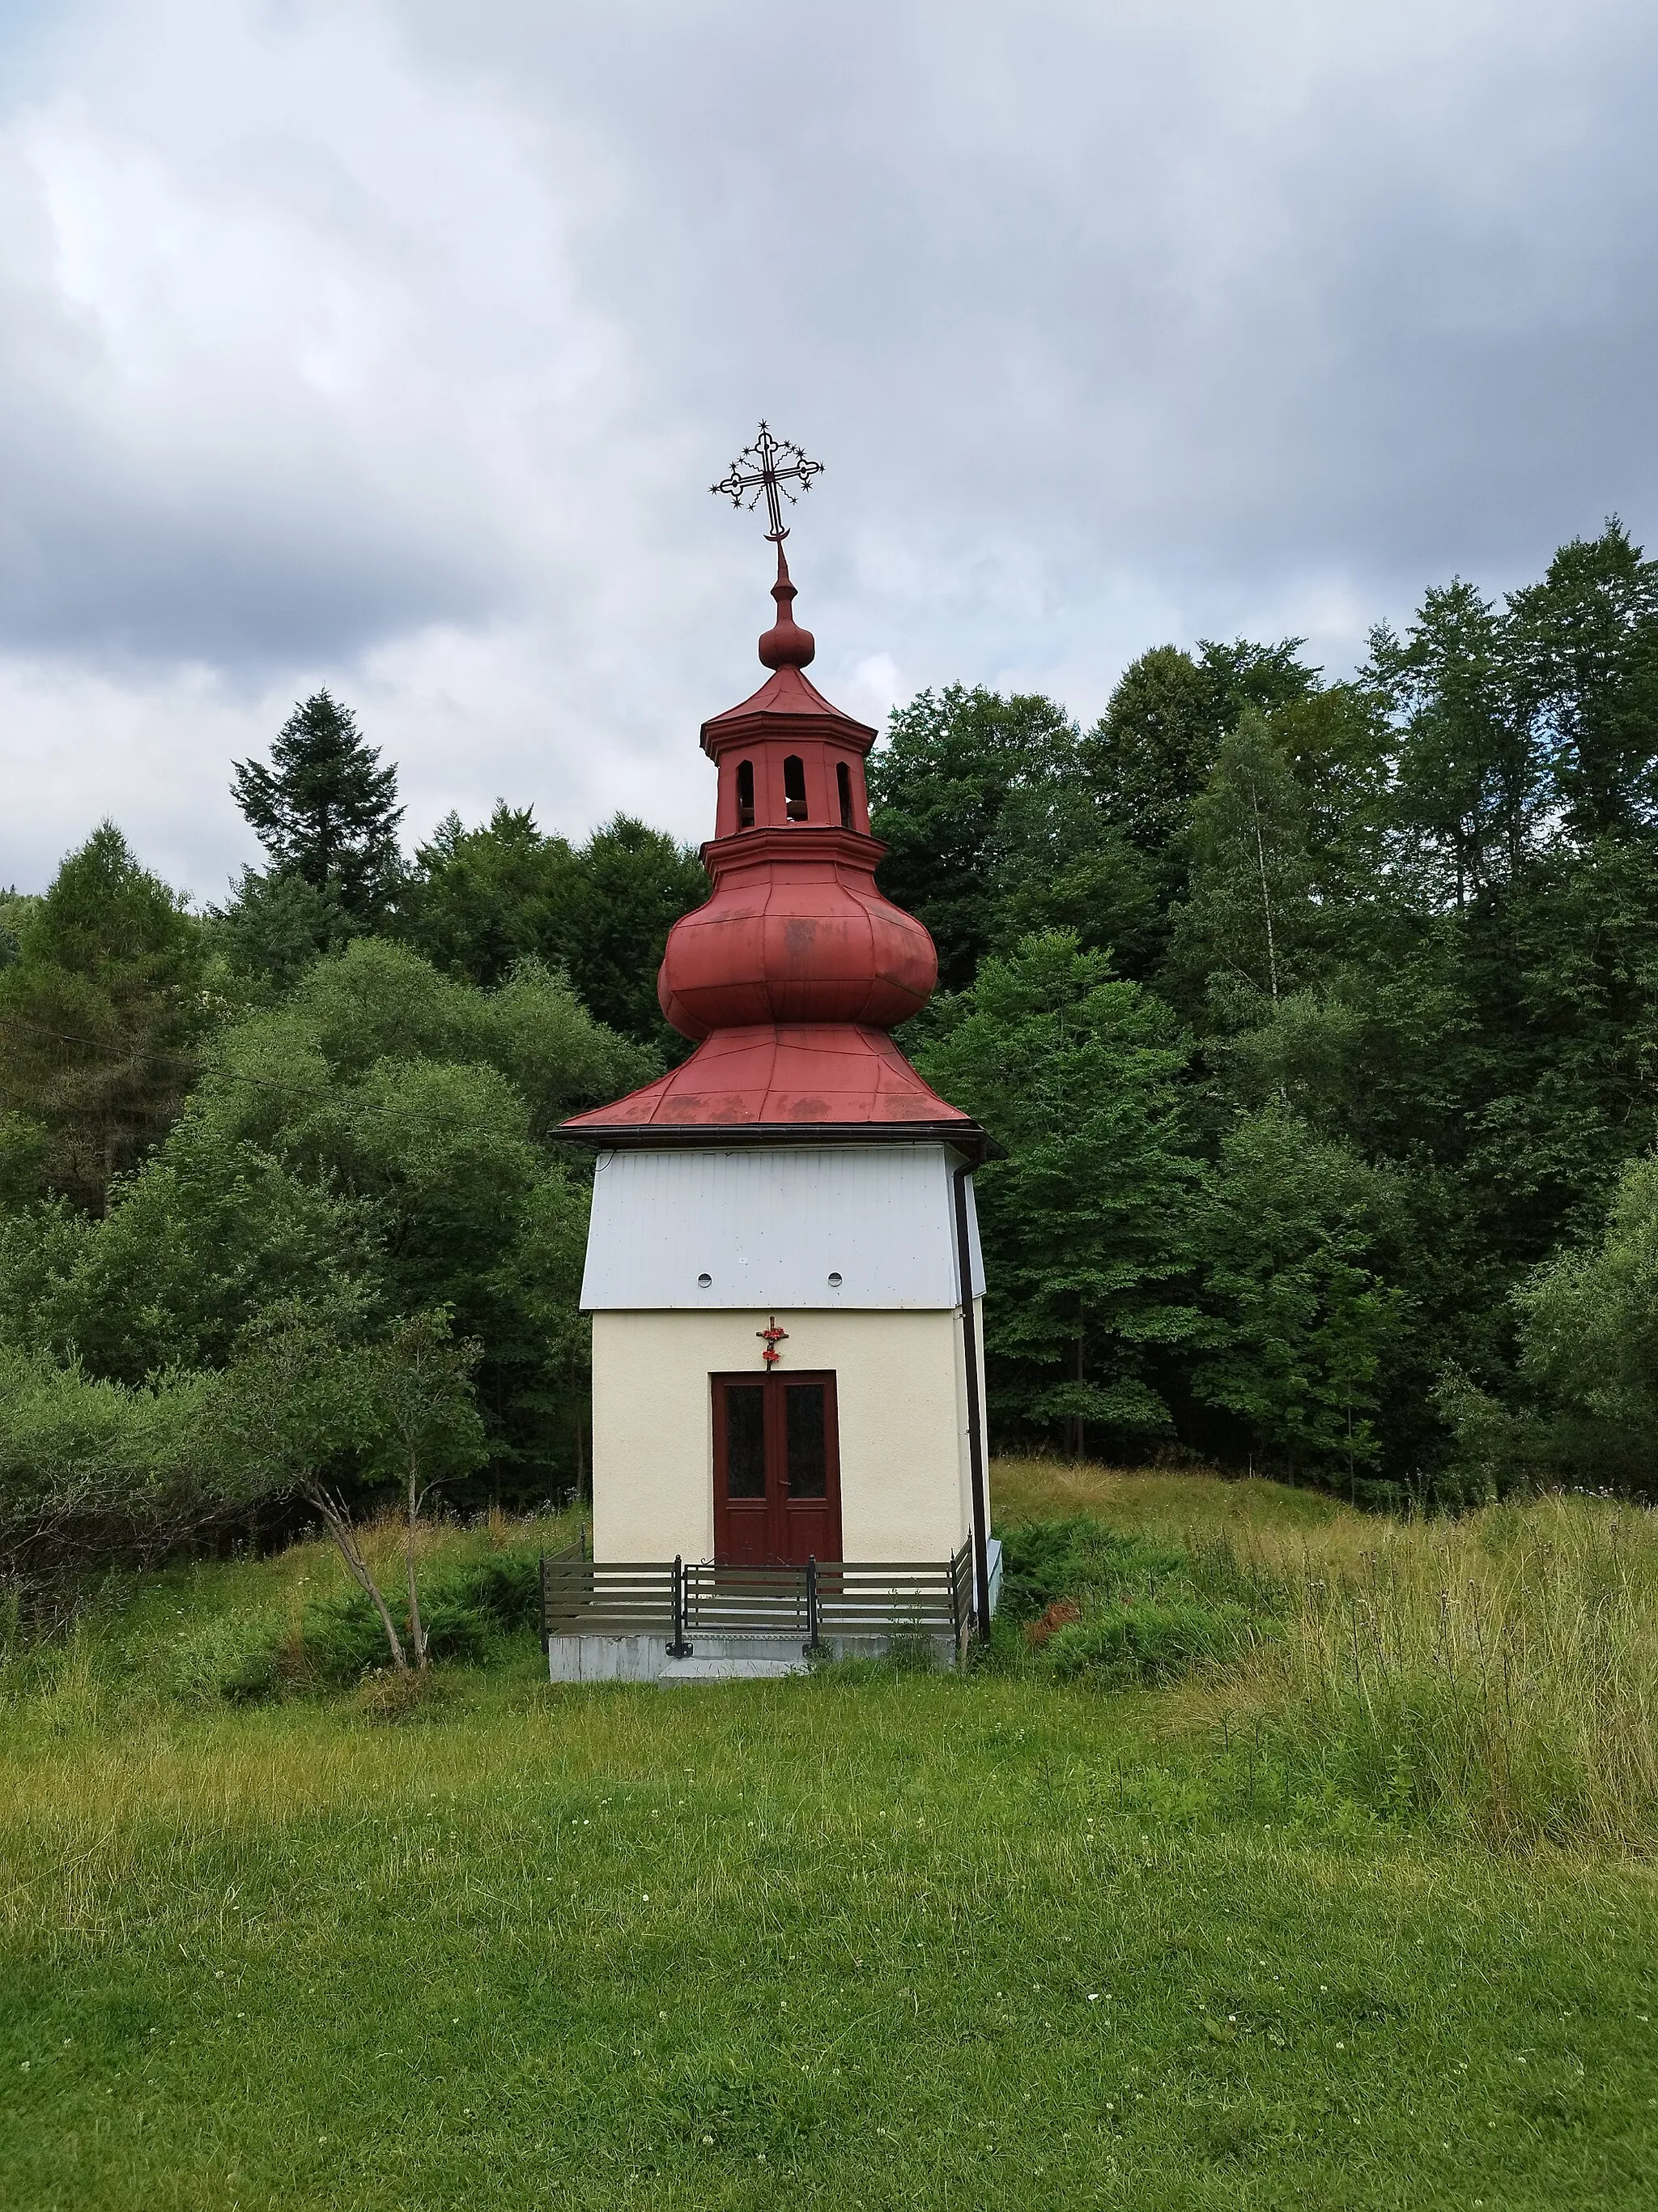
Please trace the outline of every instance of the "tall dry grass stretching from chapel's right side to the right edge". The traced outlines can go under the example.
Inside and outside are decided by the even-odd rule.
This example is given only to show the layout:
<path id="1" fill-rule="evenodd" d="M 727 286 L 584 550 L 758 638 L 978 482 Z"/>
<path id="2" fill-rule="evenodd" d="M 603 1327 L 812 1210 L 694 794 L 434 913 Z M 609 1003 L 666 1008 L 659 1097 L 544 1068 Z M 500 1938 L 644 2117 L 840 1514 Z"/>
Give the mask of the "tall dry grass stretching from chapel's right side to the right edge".
<path id="1" fill-rule="evenodd" d="M 1242 1712 L 1307 1781 L 1499 1847 L 1658 1847 L 1658 1513 L 1536 1498 L 1379 1520 L 1271 1482 L 1001 1469 L 1004 1511 L 1096 1513 L 1200 1579 L 1271 1588 L 1245 1650 L 1176 1697 Z"/>

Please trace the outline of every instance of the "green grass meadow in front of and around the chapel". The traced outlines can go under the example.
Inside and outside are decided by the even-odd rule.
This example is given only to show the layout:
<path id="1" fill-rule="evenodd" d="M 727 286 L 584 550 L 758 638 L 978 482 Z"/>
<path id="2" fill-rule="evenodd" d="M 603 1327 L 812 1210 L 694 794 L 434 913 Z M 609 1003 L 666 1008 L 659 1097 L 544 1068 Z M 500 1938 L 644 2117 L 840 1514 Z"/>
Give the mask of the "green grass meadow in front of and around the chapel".
<path id="1" fill-rule="evenodd" d="M 1116 1548 L 968 1674 L 409 1710 L 321 1546 L 106 1593 L 0 1672 L 0 2203 L 1651 2205 L 1654 1515 L 995 1500 Z"/>

